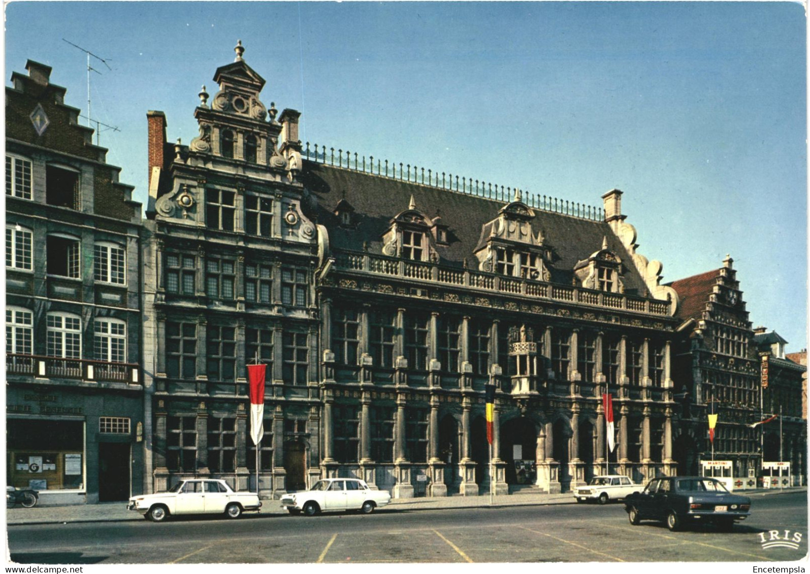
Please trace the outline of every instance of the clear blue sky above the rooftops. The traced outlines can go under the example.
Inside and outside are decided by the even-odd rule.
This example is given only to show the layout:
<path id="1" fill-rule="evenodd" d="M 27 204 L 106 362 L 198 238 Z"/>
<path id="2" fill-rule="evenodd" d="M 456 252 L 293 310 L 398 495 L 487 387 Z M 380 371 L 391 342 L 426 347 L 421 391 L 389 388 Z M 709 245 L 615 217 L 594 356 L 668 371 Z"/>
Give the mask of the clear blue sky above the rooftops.
<path id="1" fill-rule="evenodd" d="M 145 202 L 147 110 L 190 142 L 241 39 L 303 141 L 588 205 L 622 189 L 665 282 L 731 253 L 754 325 L 799 351 L 805 25 L 793 2 L 12 2 L 5 77 L 53 66 L 86 114 L 87 61 L 62 39 L 104 57 L 92 116 Z"/>

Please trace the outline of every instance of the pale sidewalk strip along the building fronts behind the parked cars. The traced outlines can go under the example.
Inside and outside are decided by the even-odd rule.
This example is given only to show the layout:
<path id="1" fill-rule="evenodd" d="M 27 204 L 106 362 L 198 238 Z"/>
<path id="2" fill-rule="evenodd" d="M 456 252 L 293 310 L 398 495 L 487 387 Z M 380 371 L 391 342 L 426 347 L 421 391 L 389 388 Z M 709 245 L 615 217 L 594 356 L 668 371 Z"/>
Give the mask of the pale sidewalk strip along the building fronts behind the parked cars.
<path id="1" fill-rule="evenodd" d="M 792 487 L 779 489 L 762 489 L 757 491 L 740 491 L 741 494 L 756 500 L 760 496 L 778 495 L 791 492 L 807 492 L 807 487 Z M 573 494 L 549 495 L 540 492 L 527 493 L 525 491 L 512 495 L 498 495 L 492 497 L 492 508 L 507 506 L 541 506 L 548 504 L 575 504 Z M 378 512 L 386 510 L 420 511 L 436 510 L 439 508 L 488 508 L 489 496 L 446 496 L 441 498 L 411 498 L 394 499 Z M 252 514 L 252 513 L 251 513 Z M 281 508 L 278 500 L 262 500 L 262 515 L 287 514 Z M 249 516 L 249 515 L 246 515 Z M 39 506 L 35 508 L 7 508 L 7 525 L 30 524 L 66 524 L 68 522 L 116 522 L 116 521 L 143 521 L 138 512 L 126 509 L 126 502 L 105 502 L 100 504 L 73 504 L 70 506 Z"/>

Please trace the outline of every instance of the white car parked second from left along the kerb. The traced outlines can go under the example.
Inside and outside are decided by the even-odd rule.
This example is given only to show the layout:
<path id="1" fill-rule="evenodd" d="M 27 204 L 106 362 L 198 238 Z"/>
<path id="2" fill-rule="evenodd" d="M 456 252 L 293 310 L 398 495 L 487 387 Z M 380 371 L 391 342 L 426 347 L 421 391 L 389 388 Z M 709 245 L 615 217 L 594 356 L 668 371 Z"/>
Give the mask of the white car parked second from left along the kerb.
<path id="1" fill-rule="evenodd" d="M 292 492 L 281 497 L 281 506 L 290 514 L 304 512 L 313 517 L 318 512 L 359 510 L 373 512 L 391 501 L 387 491 L 369 488 L 358 478 L 324 478 L 309 491 Z"/>

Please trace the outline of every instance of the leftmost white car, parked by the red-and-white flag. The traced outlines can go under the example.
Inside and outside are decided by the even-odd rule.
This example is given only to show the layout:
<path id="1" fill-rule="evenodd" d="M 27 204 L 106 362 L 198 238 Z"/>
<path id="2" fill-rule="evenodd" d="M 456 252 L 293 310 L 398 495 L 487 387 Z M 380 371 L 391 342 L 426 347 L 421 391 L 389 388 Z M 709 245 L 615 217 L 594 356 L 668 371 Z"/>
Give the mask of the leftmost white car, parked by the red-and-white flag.
<path id="1" fill-rule="evenodd" d="M 164 521 L 181 514 L 223 514 L 238 518 L 242 512 L 262 508 L 255 492 L 235 492 L 224 480 L 181 480 L 166 492 L 132 496 L 126 505 L 147 520 Z"/>

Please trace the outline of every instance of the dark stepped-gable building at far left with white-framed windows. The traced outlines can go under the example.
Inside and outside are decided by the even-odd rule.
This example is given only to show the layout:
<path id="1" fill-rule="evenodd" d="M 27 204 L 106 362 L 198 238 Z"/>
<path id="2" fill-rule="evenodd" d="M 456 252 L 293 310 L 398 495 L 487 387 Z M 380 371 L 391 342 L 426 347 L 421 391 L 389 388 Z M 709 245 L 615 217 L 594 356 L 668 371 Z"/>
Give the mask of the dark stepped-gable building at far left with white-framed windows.
<path id="1" fill-rule="evenodd" d="M 28 61 L 6 87 L 6 470 L 43 502 L 143 488 L 141 204 Z"/>

